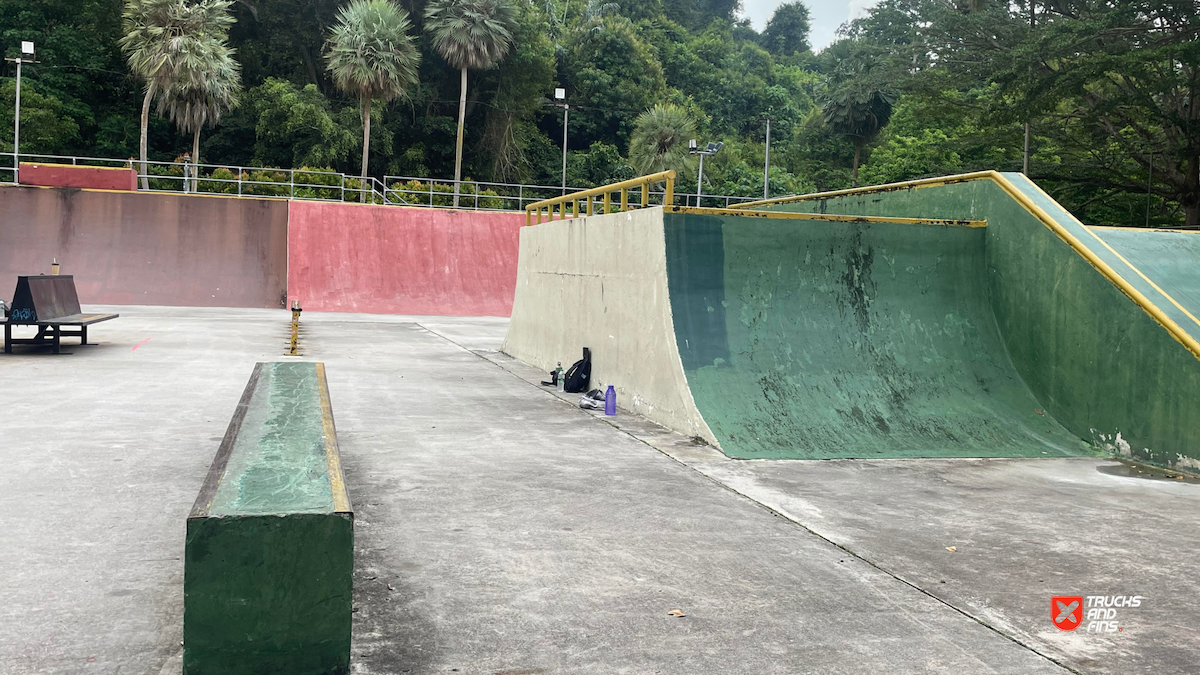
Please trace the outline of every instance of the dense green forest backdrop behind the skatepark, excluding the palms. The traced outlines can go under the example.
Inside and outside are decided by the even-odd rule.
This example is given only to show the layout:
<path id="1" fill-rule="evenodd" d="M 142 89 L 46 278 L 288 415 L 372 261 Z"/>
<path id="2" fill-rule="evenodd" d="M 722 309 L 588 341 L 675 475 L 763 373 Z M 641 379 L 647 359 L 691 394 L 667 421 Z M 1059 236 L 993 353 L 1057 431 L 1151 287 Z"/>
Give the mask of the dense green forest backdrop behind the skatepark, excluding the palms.
<path id="1" fill-rule="evenodd" d="M 638 117 L 660 103 L 685 113 L 701 145 L 725 142 L 704 162 L 704 191 L 748 197 L 762 195 L 768 118 L 773 195 L 850 186 L 856 149 L 863 184 L 1021 171 L 1028 125 L 1031 177 L 1085 222 L 1200 226 L 1193 0 L 883 0 L 818 54 L 794 1 L 761 34 L 736 16 L 737 0 L 510 2 L 511 47 L 468 73 L 467 178 L 557 185 L 563 110 L 551 98 L 563 86 L 572 185 L 632 175 Z M 359 103 L 322 56 L 344 4 L 233 5 L 246 89 L 205 132 L 205 161 L 358 168 Z M 372 108 L 371 173 L 444 179 L 461 72 L 426 30 L 426 0 L 398 5 L 414 24 L 418 83 Z M 6 55 L 32 40 L 41 61 L 24 71 L 23 150 L 137 154 L 144 89 L 118 47 L 121 10 L 121 0 L 0 0 Z M 11 66 L 6 74 L 0 96 L 11 100 Z M 887 114 L 876 109 L 870 130 L 838 127 L 836 108 L 863 97 Z M 4 108 L 0 124 L 11 123 Z M 154 115 L 149 136 L 151 159 L 191 141 Z M 692 190 L 689 171 L 679 191 Z"/>

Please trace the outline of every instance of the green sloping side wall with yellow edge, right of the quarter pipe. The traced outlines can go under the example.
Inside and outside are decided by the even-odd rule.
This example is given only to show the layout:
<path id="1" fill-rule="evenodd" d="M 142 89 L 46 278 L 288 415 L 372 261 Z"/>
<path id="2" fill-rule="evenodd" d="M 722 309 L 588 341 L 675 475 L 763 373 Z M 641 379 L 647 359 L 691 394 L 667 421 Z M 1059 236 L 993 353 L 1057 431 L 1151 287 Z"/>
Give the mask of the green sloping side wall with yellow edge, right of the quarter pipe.
<path id="1" fill-rule="evenodd" d="M 1200 471 L 1200 360 L 1062 240 L 1040 215 L 1082 243 L 1183 330 L 1194 323 L 1020 174 L 868 187 L 773 205 L 784 211 L 985 219 L 996 322 L 1016 372 L 1044 410 L 1098 450 Z M 1098 234 L 1098 232 L 1096 233 Z M 1136 257 L 1136 256 L 1135 256 Z M 1127 258 L 1138 265 L 1133 258 Z M 1147 265 L 1150 279 L 1168 276 Z M 1139 268 L 1140 269 L 1140 268 Z M 1178 274 L 1178 268 L 1172 275 Z M 1174 276 L 1182 280 L 1183 276 Z M 1166 289 L 1165 286 L 1163 286 Z M 1174 292 L 1168 291 L 1172 294 Z M 1180 293 L 1183 295 L 1183 293 Z M 1186 300 L 1175 298 L 1184 307 Z M 1195 316 L 1196 312 L 1192 312 Z M 1200 330 L 1200 328 L 1198 328 Z"/>

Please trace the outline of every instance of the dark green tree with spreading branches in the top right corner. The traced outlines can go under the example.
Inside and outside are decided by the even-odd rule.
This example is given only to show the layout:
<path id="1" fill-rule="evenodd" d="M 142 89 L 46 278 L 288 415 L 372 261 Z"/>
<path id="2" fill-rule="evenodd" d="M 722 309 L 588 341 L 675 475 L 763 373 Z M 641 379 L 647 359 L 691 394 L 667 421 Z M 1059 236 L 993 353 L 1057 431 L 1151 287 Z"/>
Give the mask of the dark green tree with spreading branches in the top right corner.
<path id="1" fill-rule="evenodd" d="M 1067 156 L 1042 178 L 1093 193 L 1085 204 L 1148 184 L 1200 227 L 1200 5 L 1046 2 L 1036 30 L 1026 17 L 1020 7 L 989 11 L 988 24 L 943 16 L 932 29 L 944 67 L 995 82 L 995 114 L 1043 118 L 1039 133 Z"/>

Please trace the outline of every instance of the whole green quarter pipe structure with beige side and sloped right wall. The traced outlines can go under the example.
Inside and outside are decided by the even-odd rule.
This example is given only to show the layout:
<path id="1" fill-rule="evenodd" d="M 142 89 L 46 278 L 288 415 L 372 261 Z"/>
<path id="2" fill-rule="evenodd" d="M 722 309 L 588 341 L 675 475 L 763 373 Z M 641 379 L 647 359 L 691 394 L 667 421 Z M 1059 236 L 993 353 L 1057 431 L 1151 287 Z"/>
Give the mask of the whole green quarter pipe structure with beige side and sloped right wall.
<path id="1" fill-rule="evenodd" d="M 1195 273 L 1144 250 L 994 172 L 552 221 L 521 232 L 504 350 L 548 370 L 590 347 L 625 407 L 734 458 L 1194 470 Z"/>

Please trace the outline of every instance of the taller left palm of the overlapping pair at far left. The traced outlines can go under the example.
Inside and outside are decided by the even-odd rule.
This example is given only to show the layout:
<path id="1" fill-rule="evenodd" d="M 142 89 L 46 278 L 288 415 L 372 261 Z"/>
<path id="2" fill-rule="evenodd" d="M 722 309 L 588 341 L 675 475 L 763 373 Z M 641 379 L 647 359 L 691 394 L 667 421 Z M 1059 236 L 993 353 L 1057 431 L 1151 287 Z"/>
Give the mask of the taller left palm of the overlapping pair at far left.
<path id="1" fill-rule="evenodd" d="M 142 100 L 140 171 L 146 179 L 146 127 L 150 103 L 174 84 L 200 86 L 209 76 L 212 53 L 224 44 L 234 18 L 232 0 L 126 0 L 125 35 L 119 44 L 130 70 L 145 80 Z"/>

